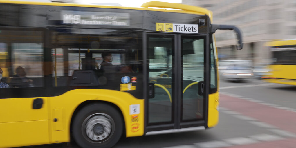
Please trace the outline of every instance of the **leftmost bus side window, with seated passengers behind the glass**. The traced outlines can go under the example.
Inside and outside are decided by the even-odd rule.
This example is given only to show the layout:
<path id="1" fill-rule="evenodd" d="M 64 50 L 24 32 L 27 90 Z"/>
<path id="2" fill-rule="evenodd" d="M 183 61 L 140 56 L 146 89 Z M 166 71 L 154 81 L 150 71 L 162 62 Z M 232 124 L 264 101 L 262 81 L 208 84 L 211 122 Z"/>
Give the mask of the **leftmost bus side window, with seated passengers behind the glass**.
<path id="1" fill-rule="evenodd" d="M 43 31 L 1 30 L 2 82 L 10 88 L 44 86 Z"/>

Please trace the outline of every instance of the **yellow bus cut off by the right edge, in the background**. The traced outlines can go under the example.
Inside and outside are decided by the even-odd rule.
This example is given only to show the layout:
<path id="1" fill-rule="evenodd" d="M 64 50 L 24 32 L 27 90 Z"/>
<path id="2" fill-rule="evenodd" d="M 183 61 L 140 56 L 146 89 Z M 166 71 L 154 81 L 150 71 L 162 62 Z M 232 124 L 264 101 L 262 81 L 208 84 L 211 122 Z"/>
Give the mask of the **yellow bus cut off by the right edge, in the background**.
<path id="1" fill-rule="evenodd" d="M 264 45 L 271 50 L 272 63 L 262 78 L 266 82 L 296 85 L 296 40 L 276 40 Z"/>

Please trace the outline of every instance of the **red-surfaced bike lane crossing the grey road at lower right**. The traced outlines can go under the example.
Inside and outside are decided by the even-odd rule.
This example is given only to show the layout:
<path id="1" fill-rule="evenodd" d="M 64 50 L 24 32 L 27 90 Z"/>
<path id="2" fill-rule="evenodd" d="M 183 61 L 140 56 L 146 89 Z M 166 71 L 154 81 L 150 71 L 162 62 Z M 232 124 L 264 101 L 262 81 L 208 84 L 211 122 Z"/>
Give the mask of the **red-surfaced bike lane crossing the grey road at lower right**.
<path id="1" fill-rule="evenodd" d="M 226 107 L 241 113 L 242 115 L 249 116 L 257 119 L 260 122 L 268 123 L 281 130 L 296 133 L 296 112 L 278 109 L 268 105 L 251 102 L 244 99 L 239 99 L 234 96 L 220 94 L 220 106 Z M 295 148 L 296 138 L 261 142 L 250 145 L 238 145 L 231 148 Z"/>

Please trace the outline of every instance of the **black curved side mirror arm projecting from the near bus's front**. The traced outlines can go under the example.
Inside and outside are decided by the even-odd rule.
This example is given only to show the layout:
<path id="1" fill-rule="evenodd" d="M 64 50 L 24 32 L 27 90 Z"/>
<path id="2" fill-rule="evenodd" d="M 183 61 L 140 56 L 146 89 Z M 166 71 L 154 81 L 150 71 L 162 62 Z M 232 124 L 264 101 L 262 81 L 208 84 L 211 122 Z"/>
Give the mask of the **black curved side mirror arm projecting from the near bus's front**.
<path id="1" fill-rule="evenodd" d="M 241 50 L 243 47 L 242 44 L 242 33 L 239 30 L 239 28 L 233 26 L 233 25 L 217 25 L 217 24 L 211 24 L 210 26 L 211 33 L 215 33 L 216 30 L 234 30 L 237 35 L 237 50 Z"/>

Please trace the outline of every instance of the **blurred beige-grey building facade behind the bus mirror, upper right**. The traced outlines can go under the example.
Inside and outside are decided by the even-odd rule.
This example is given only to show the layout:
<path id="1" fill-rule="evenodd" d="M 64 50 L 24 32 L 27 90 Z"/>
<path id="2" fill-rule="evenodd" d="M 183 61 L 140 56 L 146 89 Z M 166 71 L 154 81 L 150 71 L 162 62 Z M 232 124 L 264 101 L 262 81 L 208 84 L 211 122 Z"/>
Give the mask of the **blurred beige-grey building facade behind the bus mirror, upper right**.
<path id="1" fill-rule="evenodd" d="M 271 62 L 266 41 L 296 38 L 296 0 L 183 0 L 213 11 L 213 23 L 236 25 L 243 32 L 244 49 L 236 50 L 232 31 L 215 33 L 219 60 L 252 60 L 254 66 Z"/>

